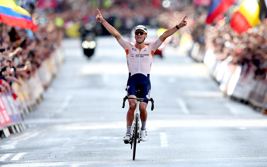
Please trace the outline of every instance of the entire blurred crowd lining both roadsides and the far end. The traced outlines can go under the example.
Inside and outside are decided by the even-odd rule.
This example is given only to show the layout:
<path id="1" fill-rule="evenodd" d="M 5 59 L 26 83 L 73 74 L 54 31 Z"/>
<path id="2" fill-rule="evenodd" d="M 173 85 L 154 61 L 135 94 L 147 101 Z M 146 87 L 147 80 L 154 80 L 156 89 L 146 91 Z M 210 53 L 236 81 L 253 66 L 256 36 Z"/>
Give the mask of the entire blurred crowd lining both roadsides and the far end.
<path id="1" fill-rule="evenodd" d="M 172 28 L 186 14 L 188 26 L 179 30 L 181 34 L 191 34 L 193 41 L 204 44 L 206 49 L 212 49 L 218 59 L 243 65 L 254 70 L 257 78 L 266 79 L 266 21 L 239 35 L 232 30 L 229 18 L 226 17 L 217 24 L 207 25 L 208 7 L 192 4 L 192 0 L 60 0 L 51 8 L 39 7 L 38 3 L 34 3 L 31 14 L 38 26 L 37 32 L 1 24 L 0 89 L 10 90 L 12 82 L 19 83 L 18 75 L 24 79 L 30 77 L 50 53 L 61 45 L 62 39 L 69 37 L 66 30 L 74 24 L 83 26 L 91 23 L 100 26 L 95 29 L 98 35 L 109 34 L 95 20 L 97 8 L 121 34 L 130 33 L 139 24 Z"/>

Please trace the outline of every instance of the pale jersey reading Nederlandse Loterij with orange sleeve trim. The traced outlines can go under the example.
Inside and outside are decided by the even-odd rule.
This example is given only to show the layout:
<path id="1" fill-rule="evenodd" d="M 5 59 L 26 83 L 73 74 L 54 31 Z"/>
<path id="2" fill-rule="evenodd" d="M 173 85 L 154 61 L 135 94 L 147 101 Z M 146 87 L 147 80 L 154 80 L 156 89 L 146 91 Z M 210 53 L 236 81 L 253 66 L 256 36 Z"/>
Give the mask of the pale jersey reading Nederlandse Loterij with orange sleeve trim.
<path id="1" fill-rule="evenodd" d="M 126 52 L 127 65 L 131 76 L 137 73 L 147 76 L 147 74 L 150 74 L 154 52 L 163 42 L 158 38 L 155 42 L 145 45 L 140 52 L 135 45 L 126 41 L 122 36 L 118 43 Z"/>

